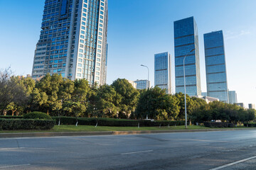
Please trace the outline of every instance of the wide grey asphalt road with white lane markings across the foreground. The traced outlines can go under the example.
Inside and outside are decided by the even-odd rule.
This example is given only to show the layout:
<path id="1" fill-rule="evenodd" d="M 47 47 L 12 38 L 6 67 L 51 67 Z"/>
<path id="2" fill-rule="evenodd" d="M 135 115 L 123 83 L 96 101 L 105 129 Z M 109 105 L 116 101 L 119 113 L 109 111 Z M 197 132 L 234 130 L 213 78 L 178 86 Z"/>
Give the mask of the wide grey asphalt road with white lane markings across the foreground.
<path id="1" fill-rule="evenodd" d="M 256 130 L 0 138 L 1 169 L 256 169 Z"/>

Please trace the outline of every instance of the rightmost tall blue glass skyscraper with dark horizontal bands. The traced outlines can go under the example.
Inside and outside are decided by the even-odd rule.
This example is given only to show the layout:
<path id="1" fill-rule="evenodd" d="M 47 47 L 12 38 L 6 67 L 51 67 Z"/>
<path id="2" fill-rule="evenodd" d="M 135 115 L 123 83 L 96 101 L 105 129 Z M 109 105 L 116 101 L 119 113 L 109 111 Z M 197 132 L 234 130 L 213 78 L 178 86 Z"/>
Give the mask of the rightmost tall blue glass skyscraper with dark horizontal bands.
<path id="1" fill-rule="evenodd" d="M 228 103 L 228 82 L 225 65 L 223 31 L 203 35 L 206 55 L 207 94 Z"/>

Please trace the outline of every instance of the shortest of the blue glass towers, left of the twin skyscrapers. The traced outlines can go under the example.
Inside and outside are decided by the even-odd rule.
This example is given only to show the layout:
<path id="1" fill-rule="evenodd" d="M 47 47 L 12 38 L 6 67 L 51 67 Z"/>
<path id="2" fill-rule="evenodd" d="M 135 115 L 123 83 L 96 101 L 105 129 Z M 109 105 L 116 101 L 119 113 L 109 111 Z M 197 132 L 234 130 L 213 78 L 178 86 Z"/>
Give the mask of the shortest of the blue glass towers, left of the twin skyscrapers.
<path id="1" fill-rule="evenodd" d="M 163 52 L 154 55 L 154 85 L 171 94 L 171 55 Z"/>

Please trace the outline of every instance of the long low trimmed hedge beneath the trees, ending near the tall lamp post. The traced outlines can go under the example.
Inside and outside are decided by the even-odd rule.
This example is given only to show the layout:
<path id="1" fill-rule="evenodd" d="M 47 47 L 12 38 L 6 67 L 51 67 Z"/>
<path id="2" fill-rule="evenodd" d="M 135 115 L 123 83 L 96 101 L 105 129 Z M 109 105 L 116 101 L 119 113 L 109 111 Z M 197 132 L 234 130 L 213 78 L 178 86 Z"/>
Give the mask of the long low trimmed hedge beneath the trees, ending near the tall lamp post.
<path id="1" fill-rule="evenodd" d="M 53 116 L 53 120 L 58 123 L 59 117 Z M 60 116 L 61 125 L 75 125 L 76 118 L 74 117 L 64 117 Z M 151 127 L 151 126 L 174 126 L 174 125 L 184 125 L 184 121 L 154 121 L 151 120 L 125 120 L 125 119 L 113 119 L 113 118 L 78 118 L 78 125 L 98 125 L 100 126 L 128 126 L 128 127 Z"/>

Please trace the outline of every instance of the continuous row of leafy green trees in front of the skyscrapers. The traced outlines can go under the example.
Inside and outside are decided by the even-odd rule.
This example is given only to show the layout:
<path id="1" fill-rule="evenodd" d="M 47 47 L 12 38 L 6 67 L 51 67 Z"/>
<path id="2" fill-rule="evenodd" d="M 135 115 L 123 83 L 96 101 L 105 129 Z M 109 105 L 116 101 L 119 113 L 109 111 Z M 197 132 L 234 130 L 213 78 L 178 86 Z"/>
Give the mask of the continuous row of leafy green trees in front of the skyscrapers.
<path id="1" fill-rule="evenodd" d="M 201 98 L 186 98 L 191 122 L 254 119 L 242 118 L 249 111 L 235 105 L 207 104 Z M 147 115 L 155 120 L 184 120 L 185 116 L 181 93 L 166 94 L 158 87 L 138 91 L 126 79 L 117 79 L 111 85 L 90 86 L 85 79 L 70 81 L 59 74 L 47 74 L 34 81 L 29 77 L 14 77 L 8 69 L 0 72 L 0 111 L 3 115 L 42 111 L 52 116 L 84 118 L 145 119 Z"/>

